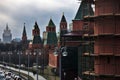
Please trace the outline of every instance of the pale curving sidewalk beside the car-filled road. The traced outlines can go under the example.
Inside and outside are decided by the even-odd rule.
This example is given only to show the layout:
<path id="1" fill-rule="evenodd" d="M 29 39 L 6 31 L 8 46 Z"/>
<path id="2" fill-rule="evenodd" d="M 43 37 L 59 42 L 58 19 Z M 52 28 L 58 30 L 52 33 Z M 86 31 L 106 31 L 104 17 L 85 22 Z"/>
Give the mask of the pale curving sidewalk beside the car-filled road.
<path id="1" fill-rule="evenodd" d="M 3 67 L 3 65 L 0 64 L 0 66 Z M 15 70 L 15 71 L 19 71 L 19 69 L 16 69 L 16 68 L 13 68 L 13 67 L 9 67 L 9 66 L 6 66 L 6 68 L 10 68 L 12 70 Z M 24 74 L 28 74 L 28 71 L 24 71 L 24 70 L 20 70 L 20 72 L 24 73 Z M 37 74 L 33 75 L 32 72 L 29 72 L 29 75 L 34 79 L 34 80 L 37 80 Z M 38 75 L 38 80 L 46 80 L 45 78 L 43 78 L 42 76 Z"/>

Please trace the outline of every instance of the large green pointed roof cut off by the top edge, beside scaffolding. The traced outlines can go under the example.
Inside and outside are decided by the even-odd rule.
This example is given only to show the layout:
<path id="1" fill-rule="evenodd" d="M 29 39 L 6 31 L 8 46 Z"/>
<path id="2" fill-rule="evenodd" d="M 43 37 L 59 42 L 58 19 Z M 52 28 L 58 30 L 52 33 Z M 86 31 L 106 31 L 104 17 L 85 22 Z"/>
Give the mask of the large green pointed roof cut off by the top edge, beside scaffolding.
<path id="1" fill-rule="evenodd" d="M 82 0 L 74 20 L 83 20 L 83 17 L 87 15 L 94 15 L 93 8 L 91 3 Z"/>

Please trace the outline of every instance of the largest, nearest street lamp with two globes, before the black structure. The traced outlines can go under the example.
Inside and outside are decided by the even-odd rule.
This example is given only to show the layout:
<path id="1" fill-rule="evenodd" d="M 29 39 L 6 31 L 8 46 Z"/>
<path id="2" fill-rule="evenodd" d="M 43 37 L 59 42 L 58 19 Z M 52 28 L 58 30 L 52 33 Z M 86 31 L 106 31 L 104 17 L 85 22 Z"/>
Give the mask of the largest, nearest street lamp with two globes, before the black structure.
<path id="1" fill-rule="evenodd" d="M 60 76 L 60 80 L 61 79 L 61 58 L 62 56 L 67 56 L 68 55 L 68 52 L 66 51 L 67 48 L 66 47 L 61 47 L 61 48 L 58 48 L 58 47 L 55 47 L 55 52 L 54 52 L 54 55 L 55 56 L 58 56 L 59 57 L 59 76 Z"/>

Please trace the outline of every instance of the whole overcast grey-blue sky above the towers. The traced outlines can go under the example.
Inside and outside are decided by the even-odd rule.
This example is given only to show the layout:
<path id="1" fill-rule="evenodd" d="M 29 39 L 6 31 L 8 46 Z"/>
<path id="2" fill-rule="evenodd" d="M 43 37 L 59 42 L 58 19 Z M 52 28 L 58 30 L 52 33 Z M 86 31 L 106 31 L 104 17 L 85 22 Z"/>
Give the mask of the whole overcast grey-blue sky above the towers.
<path id="1" fill-rule="evenodd" d="M 69 24 L 74 19 L 78 7 L 78 0 L 0 0 L 0 38 L 7 23 L 13 38 L 22 37 L 23 26 L 26 23 L 27 36 L 31 39 L 35 21 L 38 22 L 42 35 L 50 18 L 58 31 L 63 12 Z"/>

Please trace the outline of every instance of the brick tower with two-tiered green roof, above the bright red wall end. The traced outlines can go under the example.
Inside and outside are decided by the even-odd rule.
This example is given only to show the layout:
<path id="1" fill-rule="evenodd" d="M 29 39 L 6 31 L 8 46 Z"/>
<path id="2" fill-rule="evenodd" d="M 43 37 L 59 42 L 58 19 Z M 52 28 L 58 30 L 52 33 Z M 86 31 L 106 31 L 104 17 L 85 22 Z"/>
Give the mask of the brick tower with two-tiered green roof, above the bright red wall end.
<path id="1" fill-rule="evenodd" d="M 52 19 L 49 20 L 49 23 L 46 27 L 46 32 L 44 33 L 44 47 L 46 53 L 49 55 L 49 66 L 52 68 L 57 67 L 57 57 L 54 56 L 54 47 L 57 46 L 57 35 L 56 35 L 56 26 Z"/>

